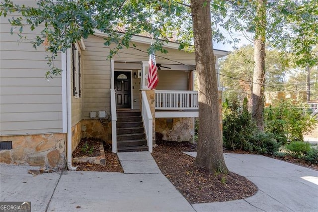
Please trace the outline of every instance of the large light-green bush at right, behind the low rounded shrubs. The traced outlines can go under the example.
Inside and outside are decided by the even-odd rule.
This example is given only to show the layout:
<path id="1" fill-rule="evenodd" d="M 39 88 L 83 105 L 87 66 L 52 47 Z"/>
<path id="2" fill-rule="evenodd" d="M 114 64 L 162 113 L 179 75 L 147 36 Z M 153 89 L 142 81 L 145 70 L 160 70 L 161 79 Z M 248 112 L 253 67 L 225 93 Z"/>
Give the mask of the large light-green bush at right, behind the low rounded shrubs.
<path id="1" fill-rule="evenodd" d="M 265 131 L 275 135 L 278 142 L 304 141 L 303 134 L 311 132 L 318 120 L 304 112 L 305 105 L 280 101 L 278 106 L 264 110 Z"/>

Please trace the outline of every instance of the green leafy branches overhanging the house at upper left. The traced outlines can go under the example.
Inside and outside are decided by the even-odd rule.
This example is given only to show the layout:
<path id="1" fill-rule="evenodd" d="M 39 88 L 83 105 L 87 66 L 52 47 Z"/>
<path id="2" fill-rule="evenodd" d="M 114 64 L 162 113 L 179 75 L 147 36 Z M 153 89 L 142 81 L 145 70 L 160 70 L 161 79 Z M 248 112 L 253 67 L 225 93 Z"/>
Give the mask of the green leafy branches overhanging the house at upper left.
<path id="1" fill-rule="evenodd" d="M 11 33 L 18 26 L 21 39 L 25 38 L 21 35 L 23 27 L 34 30 L 40 24 L 45 26 L 32 43 L 35 48 L 45 44 L 52 53 L 48 56 L 52 71 L 47 76 L 61 71 L 52 62 L 59 51 L 65 52 L 72 43 L 87 38 L 95 30 L 108 35 L 105 45 L 117 44 L 110 52 L 112 57 L 123 47 L 129 47 L 134 34 L 144 33 L 154 38 L 149 52 L 166 53 L 162 48 L 164 42 L 172 37 L 185 37 L 182 31 L 192 28 L 191 22 L 190 25 L 181 22 L 189 14 L 189 8 L 179 0 L 39 0 L 33 7 L 14 4 L 11 0 L 1 2 L 0 15 L 11 13 L 21 15 L 9 18 L 13 25 Z M 185 46 L 181 42 L 180 48 Z"/>

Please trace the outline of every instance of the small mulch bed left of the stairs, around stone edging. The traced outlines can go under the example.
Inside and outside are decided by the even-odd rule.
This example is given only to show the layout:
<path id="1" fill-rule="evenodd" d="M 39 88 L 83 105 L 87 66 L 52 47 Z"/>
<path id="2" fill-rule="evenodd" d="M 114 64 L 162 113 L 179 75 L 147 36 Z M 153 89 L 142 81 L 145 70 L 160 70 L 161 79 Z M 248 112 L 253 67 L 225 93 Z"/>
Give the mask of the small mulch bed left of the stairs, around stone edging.
<path id="1" fill-rule="evenodd" d="M 72 157 L 85 157 L 82 156 L 82 153 L 80 152 L 81 146 L 84 145 L 85 142 L 88 142 L 90 145 L 94 146 L 95 148 L 99 148 L 99 139 L 94 138 L 83 138 L 80 142 L 76 150 L 74 150 Z M 101 141 L 103 142 L 103 141 Z M 119 162 L 119 159 L 117 157 L 117 154 L 112 153 L 111 150 L 111 144 L 103 142 L 104 145 L 104 152 L 105 152 L 105 166 L 97 165 L 97 164 L 91 164 L 91 163 L 73 163 L 74 166 L 77 167 L 77 171 L 96 171 L 96 172 L 121 172 L 124 173 L 123 168 L 121 167 L 121 164 Z M 98 153 L 95 152 L 95 155 L 89 155 L 88 157 L 92 156 L 99 156 L 100 152 L 98 149 Z M 87 157 L 87 156 L 86 156 Z"/>

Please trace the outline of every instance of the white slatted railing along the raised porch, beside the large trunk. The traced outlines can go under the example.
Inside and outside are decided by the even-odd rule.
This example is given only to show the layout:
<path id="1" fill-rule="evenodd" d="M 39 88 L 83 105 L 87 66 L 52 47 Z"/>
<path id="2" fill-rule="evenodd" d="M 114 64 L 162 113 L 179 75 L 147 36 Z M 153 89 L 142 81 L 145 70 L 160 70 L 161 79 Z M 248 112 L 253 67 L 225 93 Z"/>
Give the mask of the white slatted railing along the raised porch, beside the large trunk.
<path id="1" fill-rule="evenodd" d="M 180 110 L 198 109 L 197 91 L 155 91 L 155 109 Z"/>

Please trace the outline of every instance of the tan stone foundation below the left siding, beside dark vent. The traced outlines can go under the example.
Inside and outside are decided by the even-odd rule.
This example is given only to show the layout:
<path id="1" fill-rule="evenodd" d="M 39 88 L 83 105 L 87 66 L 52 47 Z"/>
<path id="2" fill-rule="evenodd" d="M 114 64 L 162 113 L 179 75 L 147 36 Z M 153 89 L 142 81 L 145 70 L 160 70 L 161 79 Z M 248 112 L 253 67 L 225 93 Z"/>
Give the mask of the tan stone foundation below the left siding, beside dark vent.
<path id="1" fill-rule="evenodd" d="M 12 141 L 12 149 L 0 150 L 0 163 L 65 167 L 66 134 L 0 136 L 0 141 Z"/>

